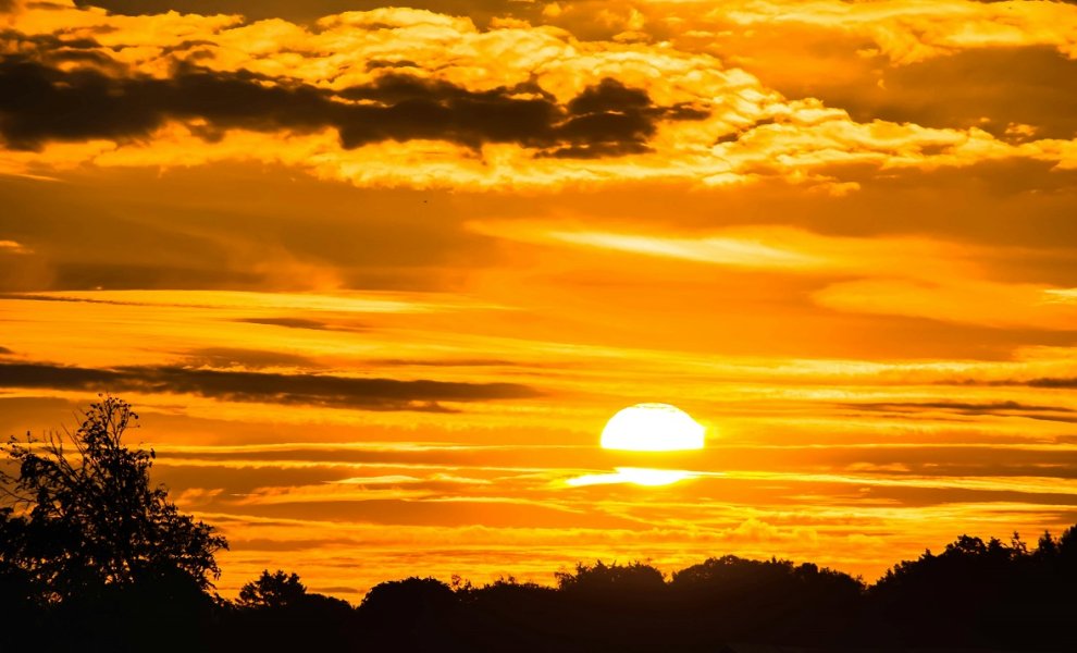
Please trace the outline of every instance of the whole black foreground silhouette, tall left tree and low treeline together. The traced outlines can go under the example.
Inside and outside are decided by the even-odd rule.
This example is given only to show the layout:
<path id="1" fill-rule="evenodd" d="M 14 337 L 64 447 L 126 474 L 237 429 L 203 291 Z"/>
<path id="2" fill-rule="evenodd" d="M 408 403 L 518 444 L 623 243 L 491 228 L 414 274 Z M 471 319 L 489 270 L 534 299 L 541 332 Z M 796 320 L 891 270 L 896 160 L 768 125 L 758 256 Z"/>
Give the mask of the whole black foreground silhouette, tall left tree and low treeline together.
<path id="1" fill-rule="evenodd" d="M 580 564 L 556 588 L 408 578 L 357 607 L 267 570 L 228 601 L 226 542 L 150 485 L 153 452 L 120 441 L 135 420 L 107 397 L 73 433 L 4 447 L 0 652 L 1077 651 L 1077 526 L 1035 550 L 962 535 L 870 587 L 727 555 L 668 578 Z"/>

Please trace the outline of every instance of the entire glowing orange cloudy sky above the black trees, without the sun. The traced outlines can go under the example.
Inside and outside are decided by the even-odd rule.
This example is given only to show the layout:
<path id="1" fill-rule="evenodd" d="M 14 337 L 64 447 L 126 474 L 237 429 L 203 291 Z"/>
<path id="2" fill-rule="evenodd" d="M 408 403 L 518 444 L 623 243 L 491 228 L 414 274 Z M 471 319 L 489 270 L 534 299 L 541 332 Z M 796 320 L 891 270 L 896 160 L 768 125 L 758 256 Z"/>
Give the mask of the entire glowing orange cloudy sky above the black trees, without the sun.
<path id="1" fill-rule="evenodd" d="M 1077 3 L 0 0 L 0 433 L 225 595 L 1077 522 Z"/>

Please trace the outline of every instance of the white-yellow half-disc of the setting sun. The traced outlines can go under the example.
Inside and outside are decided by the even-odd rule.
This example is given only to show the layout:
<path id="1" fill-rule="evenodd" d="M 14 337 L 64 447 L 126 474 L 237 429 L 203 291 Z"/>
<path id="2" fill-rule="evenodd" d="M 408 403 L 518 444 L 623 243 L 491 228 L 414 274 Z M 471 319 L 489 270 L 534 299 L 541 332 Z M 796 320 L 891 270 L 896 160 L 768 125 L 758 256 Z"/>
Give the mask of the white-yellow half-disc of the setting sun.
<path id="1" fill-rule="evenodd" d="M 669 404 L 636 404 L 610 418 L 602 431 L 602 447 L 632 452 L 703 448 L 704 429 Z"/>

